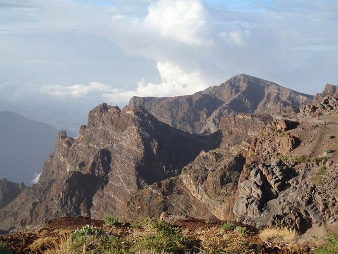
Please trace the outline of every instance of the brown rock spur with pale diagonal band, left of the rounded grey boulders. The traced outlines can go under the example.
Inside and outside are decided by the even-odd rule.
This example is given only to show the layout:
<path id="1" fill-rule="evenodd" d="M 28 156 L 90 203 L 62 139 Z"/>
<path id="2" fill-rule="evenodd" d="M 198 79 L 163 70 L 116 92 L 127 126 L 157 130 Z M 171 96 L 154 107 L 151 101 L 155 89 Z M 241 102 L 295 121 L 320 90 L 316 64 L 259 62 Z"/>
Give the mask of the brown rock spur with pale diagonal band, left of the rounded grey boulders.
<path id="1" fill-rule="evenodd" d="M 129 213 L 159 217 L 161 212 L 196 218 L 233 219 L 232 206 L 245 163 L 245 145 L 201 152 L 182 174 L 136 193 Z"/>

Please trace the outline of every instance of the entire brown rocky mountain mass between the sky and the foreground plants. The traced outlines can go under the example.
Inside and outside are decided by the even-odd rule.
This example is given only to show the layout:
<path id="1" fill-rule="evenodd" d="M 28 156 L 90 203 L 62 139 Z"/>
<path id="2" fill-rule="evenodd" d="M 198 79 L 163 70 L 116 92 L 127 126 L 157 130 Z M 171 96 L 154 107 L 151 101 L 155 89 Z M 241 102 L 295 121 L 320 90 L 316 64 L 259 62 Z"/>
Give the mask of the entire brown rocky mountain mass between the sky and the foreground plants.
<path id="1" fill-rule="evenodd" d="M 238 75 L 122 110 L 103 103 L 77 138 L 59 132 L 38 184 L 2 202 L 0 230 L 106 213 L 335 226 L 337 91 L 314 97 Z"/>

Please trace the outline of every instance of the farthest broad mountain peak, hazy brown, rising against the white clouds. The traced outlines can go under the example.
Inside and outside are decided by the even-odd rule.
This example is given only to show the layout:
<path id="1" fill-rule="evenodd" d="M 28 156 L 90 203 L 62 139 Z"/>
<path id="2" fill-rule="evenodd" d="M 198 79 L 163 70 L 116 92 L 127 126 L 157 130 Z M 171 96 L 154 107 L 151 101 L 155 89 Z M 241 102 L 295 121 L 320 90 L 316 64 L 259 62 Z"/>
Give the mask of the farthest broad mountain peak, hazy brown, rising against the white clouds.
<path id="1" fill-rule="evenodd" d="M 221 119 L 230 113 L 295 116 L 300 105 L 312 98 L 312 95 L 241 74 L 192 95 L 132 97 L 129 105 L 140 106 L 159 121 L 186 132 L 210 133 L 218 130 Z"/>

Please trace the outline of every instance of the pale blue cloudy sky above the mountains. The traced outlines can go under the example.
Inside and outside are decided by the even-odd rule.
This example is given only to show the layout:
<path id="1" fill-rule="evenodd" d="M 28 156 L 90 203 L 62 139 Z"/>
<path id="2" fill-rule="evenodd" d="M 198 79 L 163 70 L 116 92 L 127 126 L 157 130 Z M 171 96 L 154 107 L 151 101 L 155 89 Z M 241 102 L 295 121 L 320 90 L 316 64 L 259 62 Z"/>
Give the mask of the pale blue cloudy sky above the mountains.
<path id="1" fill-rule="evenodd" d="M 0 110 L 54 127 L 241 73 L 315 94 L 337 66 L 337 0 L 0 0 Z"/>

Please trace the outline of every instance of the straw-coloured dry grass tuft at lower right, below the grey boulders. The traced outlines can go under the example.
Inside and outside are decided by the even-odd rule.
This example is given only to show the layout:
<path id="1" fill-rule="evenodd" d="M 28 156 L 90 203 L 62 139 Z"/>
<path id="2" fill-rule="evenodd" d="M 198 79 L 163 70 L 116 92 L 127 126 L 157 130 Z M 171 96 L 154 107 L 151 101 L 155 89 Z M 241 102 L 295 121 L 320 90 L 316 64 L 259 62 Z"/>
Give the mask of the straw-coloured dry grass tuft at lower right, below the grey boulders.
<path id="1" fill-rule="evenodd" d="M 287 227 L 270 227 L 262 229 L 259 237 L 265 242 L 291 243 L 298 240 L 300 235 L 296 230 Z"/>

